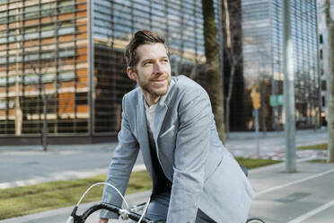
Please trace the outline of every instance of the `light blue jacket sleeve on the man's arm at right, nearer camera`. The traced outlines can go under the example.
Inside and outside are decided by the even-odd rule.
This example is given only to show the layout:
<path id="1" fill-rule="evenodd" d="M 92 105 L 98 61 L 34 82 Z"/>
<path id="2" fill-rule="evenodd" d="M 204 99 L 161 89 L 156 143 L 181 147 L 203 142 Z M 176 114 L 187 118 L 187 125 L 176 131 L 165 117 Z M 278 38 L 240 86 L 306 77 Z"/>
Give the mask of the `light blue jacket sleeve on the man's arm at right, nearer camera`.
<path id="1" fill-rule="evenodd" d="M 210 147 L 211 119 L 210 99 L 203 88 L 198 86 L 182 95 L 168 223 L 196 220 Z"/>

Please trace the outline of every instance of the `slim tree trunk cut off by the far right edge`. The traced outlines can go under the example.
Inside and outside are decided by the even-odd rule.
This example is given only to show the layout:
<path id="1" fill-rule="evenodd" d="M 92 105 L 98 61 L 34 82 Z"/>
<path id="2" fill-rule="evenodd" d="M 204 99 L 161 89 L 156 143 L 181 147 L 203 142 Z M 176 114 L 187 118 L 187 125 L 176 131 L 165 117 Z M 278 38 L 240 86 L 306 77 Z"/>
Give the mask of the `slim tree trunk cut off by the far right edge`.
<path id="1" fill-rule="evenodd" d="M 325 2 L 326 25 L 328 30 L 328 50 L 329 50 L 329 76 L 328 76 L 328 132 L 329 132 L 329 147 L 327 162 L 334 162 L 334 21 L 330 17 L 330 0 Z"/>

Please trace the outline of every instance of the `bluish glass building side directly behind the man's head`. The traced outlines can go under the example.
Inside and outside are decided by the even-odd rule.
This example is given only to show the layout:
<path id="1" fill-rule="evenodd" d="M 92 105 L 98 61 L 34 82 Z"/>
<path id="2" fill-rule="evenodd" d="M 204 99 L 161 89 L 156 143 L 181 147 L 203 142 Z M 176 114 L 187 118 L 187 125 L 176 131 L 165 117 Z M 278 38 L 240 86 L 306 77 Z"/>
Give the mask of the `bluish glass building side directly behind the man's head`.
<path id="1" fill-rule="evenodd" d="M 123 60 L 131 33 L 162 33 L 171 48 L 172 75 L 191 75 L 205 60 L 201 1 L 99 0 L 92 8 L 94 132 L 116 133 L 122 96 L 136 84 L 127 78 Z"/>

